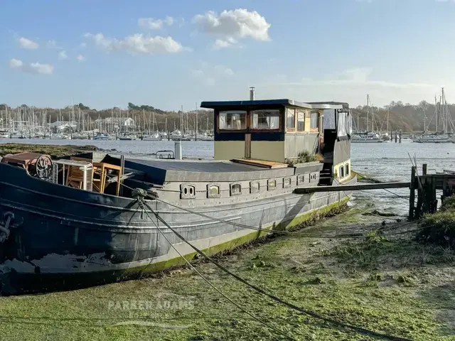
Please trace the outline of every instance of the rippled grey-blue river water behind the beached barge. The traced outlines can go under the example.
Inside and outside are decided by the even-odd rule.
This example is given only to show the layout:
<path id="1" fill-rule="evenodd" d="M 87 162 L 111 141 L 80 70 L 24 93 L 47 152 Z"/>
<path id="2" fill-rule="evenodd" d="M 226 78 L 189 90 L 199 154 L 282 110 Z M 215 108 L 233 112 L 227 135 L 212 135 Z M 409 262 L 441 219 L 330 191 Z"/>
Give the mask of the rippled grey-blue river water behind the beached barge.
<path id="1" fill-rule="evenodd" d="M 52 144 L 85 146 L 90 144 L 105 150 L 115 149 L 113 153 L 132 153 L 150 155 L 156 151 L 174 150 L 173 141 L 115 141 L 115 140 L 41 140 L 41 139 L 0 139 L 2 143 Z M 417 172 L 422 171 L 422 163 L 428 164 L 428 173 L 455 170 L 455 144 L 416 144 L 404 142 L 385 142 L 382 144 L 352 144 L 352 169 L 378 180 L 395 182 L 410 181 L 412 163 L 410 156 L 417 158 Z M 182 154 L 189 158 L 212 158 L 213 141 L 182 141 Z M 402 195 L 397 197 L 392 193 Z M 375 209 L 387 210 L 406 215 L 409 190 L 406 188 L 370 190 L 355 192 L 355 197 L 374 201 Z"/>

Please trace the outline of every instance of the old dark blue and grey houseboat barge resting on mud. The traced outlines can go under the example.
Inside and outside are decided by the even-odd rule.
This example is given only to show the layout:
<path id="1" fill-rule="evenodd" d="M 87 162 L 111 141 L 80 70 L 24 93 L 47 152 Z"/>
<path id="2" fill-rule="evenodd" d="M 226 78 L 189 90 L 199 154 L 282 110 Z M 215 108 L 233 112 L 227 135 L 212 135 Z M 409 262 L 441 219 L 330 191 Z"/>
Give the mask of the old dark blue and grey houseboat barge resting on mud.
<path id="1" fill-rule="evenodd" d="M 355 184 L 348 104 L 250 99 L 201 107 L 215 115 L 214 160 L 95 152 L 63 159 L 5 156 L 2 294 L 81 288 L 184 264 L 156 224 L 181 254 L 195 258 L 153 214 L 150 220 L 133 197 L 136 188 L 146 190 L 154 212 L 207 254 L 234 249 L 270 229 L 296 227 L 348 200 L 351 193 L 344 191 L 294 193 Z"/>

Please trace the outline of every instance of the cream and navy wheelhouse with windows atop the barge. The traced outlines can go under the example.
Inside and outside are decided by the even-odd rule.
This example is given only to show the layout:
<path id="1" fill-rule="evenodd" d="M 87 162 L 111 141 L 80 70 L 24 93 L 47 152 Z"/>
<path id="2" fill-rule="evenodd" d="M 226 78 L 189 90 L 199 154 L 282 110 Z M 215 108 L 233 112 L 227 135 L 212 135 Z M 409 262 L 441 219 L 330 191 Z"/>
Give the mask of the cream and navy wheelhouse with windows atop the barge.
<path id="1" fill-rule="evenodd" d="M 252 158 L 285 163 L 305 153 L 326 151 L 327 161 L 333 163 L 337 161 L 335 142 L 350 139 L 346 103 L 267 99 L 202 102 L 201 107 L 214 110 L 216 160 Z"/>

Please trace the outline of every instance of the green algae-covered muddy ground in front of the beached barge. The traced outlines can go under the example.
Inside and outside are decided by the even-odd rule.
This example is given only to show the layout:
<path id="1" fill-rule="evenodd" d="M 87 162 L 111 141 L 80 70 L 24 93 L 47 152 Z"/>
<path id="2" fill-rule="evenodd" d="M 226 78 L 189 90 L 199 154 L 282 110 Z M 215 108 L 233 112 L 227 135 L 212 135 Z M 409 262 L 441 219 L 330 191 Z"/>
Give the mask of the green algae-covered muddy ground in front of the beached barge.
<path id="1" fill-rule="evenodd" d="M 336 224 L 341 233 L 358 232 L 358 225 L 343 223 L 351 214 L 309 229 L 332 233 Z M 380 232 L 348 241 L 277 237 L 218 261 L 330 318 L 413 340 L 453 340 L 455 264 L 441 247 Z M 235 302 L 296 340 L 374 340 L 273 303 L 213 264 L 196 266 Z M 186 268 L 141 281 L 0 298 L 0 334 L 1 340 L 285 340 Z"/>

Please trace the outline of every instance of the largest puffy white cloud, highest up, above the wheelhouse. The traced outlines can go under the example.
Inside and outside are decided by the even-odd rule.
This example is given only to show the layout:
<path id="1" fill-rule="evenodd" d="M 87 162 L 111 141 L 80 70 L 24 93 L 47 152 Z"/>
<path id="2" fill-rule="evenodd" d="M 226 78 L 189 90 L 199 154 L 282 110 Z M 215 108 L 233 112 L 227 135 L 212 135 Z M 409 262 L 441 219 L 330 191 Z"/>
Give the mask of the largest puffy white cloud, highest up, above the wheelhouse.
<path id="1" fill-rule="evenodd" d="M 198 31 L 220 37 L 215 40 L 215 48 L 230 47 L 240 38 L 270 40 L 271 25 L 257 11 L 225 10 L 219 16 L 214 11 L 208 11 L 194 16 L 192 22 L 197 26 Z"/>

